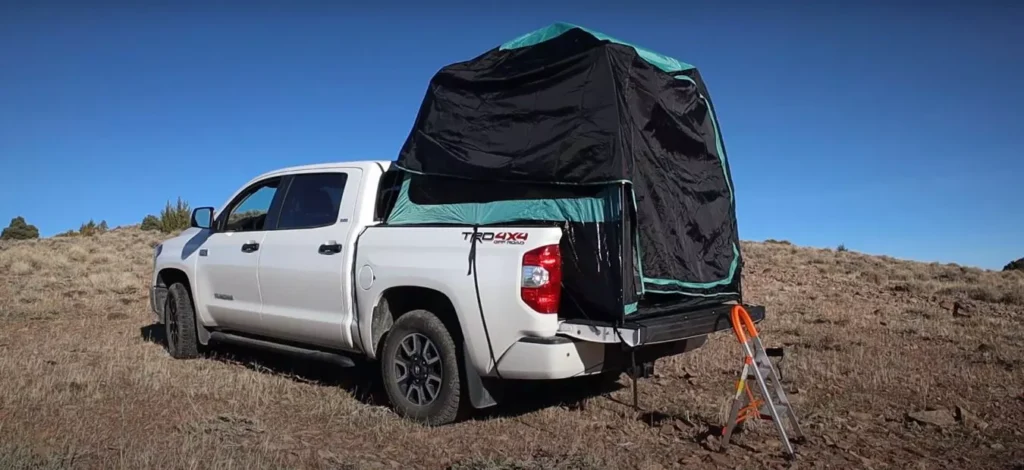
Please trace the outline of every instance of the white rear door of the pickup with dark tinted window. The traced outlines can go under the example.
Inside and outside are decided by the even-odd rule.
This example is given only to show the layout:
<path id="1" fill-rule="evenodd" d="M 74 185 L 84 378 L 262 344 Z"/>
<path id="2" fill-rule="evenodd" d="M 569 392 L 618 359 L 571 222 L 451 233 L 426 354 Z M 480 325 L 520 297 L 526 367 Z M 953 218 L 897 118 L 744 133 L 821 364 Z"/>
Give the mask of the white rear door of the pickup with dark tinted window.
<path id="1" fill-rule="evenodd" d="M 360 179 L 357 168 L 289 177 L 281 216 L 260 249 L 264 335 L 351 347 L 352 230 Z"/>

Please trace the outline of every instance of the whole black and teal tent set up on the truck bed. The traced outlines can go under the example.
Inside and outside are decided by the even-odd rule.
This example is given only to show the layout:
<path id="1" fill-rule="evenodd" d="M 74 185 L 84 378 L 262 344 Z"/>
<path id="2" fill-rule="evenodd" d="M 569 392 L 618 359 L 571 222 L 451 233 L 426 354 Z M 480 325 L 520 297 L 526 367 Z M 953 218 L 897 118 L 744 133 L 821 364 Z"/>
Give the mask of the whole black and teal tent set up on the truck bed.
<path id="1" fill-rule="evenodd" d="M 568 24 L 443 67 L 389 224 L 564 227 L 561 314 L 740 300 L 729 164 L 697 70 Z"/>

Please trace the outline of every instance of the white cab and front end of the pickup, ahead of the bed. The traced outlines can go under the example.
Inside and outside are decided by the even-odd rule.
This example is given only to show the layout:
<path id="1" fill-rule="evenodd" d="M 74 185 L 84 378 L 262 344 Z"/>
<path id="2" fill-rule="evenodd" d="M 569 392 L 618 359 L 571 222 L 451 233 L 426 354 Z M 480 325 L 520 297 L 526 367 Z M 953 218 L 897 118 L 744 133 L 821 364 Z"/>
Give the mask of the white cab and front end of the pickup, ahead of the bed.
<path id="1" fill-rule="evenodd" d="M 352 271 L 344 267 L 373 223 L 386 164 L 311 165 L 252 179 L 221 210 L 194 211 L 194 226 L 158 248 L 154 286 L 187 279 L 206 330 L 357 350 Z M 155 296 L 158 309 L 161 301 Z"/>

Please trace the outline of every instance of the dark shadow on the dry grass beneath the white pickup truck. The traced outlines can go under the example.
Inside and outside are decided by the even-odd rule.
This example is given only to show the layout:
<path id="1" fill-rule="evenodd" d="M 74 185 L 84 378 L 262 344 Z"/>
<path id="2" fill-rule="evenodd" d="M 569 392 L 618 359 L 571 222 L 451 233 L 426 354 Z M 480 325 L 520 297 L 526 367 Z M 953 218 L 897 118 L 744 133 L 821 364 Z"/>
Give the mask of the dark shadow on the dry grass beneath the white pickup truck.
<path id="1" fill-rule="evenodd" d="M 142 327 L 139 334 L 144 341 L 162 347 L 167 345 L 163 325 Z M 288 354 L 230 344 L 216 344 L 202 354 L 207 359 L 241 365 L 263 374 L 281 375 L 317 386 L 340 387 L 365 404 L 389 404 L 381 383 L 379 365 L 359 360 L 358 357 L 353 356 L 354 368 L 341 368 L 329 362 L 296 359 Z M 469 419 L 514 418 L 556 407 L 585 410 L 588 400 L 618 388 L 622 385 L 594 377 L 558 381 L 506 380 L 502 390 L 505 399 L 496 407 L 475 410 Z"/>

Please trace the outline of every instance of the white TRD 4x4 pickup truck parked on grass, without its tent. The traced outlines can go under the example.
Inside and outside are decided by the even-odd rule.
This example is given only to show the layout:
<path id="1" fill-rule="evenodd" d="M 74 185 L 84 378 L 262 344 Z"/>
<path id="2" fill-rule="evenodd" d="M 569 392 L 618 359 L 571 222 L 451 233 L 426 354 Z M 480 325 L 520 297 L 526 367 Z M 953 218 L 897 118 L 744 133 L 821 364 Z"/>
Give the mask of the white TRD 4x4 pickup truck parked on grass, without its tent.
<path id="1" fill-rule="evenodd" d="M 380 365 L 399 415 L 443 424 L 495 404 L 503 380 L 636 377 L 730 328 L 729 305 L 621 325 L 562 318 L 561 228 L 389 226 L 389 165 L 272 171 L 219 211 L 196 209 L 154 253 L 151 304 L 170 355 L 227 342 L 361 357 Z"/>

